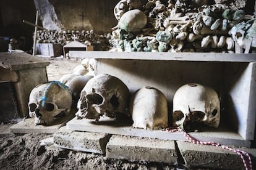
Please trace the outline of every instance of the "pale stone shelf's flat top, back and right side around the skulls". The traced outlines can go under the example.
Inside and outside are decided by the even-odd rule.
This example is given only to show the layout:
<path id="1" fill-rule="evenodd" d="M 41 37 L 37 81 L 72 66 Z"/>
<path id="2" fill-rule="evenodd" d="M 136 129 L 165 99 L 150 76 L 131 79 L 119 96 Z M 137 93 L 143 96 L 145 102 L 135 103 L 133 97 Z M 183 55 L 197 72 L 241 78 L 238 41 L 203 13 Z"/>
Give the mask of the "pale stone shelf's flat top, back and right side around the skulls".
<path id="1" fill-rule="evenodd" d="M 221 99 L 221 123 L 236 129 L 244 142 L 254 140 L 255 54 L 70 51 L 69 56 L 96 59 L 96 75 L 116 76 L 131 93 L 145 86 L 159 89 L 166 95 L 169 113 L 179 87 L 187 83 L 209 86 Z"/>

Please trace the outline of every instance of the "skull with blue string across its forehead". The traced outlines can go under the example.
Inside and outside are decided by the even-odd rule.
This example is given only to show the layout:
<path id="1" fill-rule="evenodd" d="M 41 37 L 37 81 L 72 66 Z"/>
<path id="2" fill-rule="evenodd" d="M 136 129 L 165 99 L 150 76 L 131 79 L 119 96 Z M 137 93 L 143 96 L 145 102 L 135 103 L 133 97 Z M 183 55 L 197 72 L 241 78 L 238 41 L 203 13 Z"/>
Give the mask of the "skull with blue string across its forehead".
<path id="1" fill-rule="evenodd" d="M 30 92 L 29 115 L 35 125 L 51 124 L 61 115 L 67 115 L 72 105 L 72 92 L 59 81 L 39 84 Z"/>

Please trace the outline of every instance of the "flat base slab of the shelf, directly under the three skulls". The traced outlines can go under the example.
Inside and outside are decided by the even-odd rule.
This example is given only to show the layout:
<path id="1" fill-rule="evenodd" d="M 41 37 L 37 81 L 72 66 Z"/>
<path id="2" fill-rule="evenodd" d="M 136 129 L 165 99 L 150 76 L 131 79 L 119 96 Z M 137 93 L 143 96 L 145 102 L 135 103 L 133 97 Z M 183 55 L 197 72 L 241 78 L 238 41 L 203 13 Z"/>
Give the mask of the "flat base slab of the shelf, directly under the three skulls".
<path id="1" fill-rule="evenodd" d="M 67 129 L 72 131 L 101 132 L 109 134 L 151 137 L 168 140 L 187 140 L 181 132 L 167 132 L 165 130 L 146 130 L 132 127 L 131 121 L 114 121 L 108 117 L 101 117 L 98 122 L 90 119 L 73 118 L 67 123 Z M 214 141 L 223 145 L 250 147 L 250 141 L 244 140 L 236 132 L 226 128 L 205 129 L 202 132 L 190 132 L 192 137 L 204 142 Z"/>

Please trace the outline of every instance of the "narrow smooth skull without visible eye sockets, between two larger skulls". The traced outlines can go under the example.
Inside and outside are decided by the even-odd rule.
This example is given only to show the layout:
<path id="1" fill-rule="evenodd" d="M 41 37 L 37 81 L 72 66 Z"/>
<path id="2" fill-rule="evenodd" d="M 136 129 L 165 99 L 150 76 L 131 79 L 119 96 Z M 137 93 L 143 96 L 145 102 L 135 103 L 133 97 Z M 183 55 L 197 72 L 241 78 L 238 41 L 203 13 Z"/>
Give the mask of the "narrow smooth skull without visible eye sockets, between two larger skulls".
<path id="1" fill-rule="evenodd" d="M 168 127 L 168 105 L 164 94 L 154 87 L 143 87 L 130 100 L 133 127 L 163 129 Z"/>

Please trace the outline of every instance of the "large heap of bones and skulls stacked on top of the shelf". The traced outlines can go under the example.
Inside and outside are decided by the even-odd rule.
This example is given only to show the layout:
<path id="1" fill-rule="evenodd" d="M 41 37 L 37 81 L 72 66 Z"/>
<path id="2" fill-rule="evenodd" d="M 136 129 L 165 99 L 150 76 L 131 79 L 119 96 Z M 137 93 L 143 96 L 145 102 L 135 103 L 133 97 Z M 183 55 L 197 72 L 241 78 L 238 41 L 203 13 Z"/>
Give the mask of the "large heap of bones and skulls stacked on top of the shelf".
<path id="1" fill-rule="evenodd" d="M 114 7 L 112 51 L 234 52 L 237 39 L 244 42 L 255 32 L 245 2 L 121 0 Z"/>

